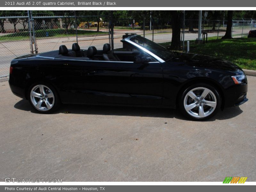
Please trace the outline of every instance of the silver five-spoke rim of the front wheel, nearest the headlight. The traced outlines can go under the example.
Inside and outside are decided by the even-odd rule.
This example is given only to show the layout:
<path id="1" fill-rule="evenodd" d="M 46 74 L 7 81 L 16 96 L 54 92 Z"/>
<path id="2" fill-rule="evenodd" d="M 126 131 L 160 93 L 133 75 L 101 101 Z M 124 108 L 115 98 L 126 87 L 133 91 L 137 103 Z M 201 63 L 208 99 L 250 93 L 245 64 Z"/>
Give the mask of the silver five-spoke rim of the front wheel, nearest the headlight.
<path id="1" fill-rule="evenodd" d="M 217 107 L 217 98 L 210 89 L 196 87 L 187 92 L 183 104 L 188 115 L 200 119 L 214 112 Z"/>

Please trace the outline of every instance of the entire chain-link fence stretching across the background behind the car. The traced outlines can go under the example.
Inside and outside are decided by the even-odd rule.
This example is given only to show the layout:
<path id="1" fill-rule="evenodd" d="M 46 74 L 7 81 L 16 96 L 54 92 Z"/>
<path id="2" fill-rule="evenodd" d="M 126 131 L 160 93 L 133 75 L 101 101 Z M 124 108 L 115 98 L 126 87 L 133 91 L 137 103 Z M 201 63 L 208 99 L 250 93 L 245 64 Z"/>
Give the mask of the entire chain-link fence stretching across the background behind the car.
<path id="1" fill-rule="evenodd" d="M 156 43 L 171 44 L 171 18 L 127 18 L 110 19 L 110 16 L 80 16 L 76 12 L 64 15 L 33 14 L 28 16 L 0 17 L 0 78 L 9 75 L 12 59 L 31 53 L 58 50 L 60 45 L 72 48 L 78 43 L 81 49 L 95 46 L 102 50 L 105 43 L 111 44 L 114 49 L 123 47 L 120 40 L 125 33 L 138 34 Z M 183 22 L 183 21 L 182 21 Z M 112 25 L 111 25 L 112 23 Z M 181 25 L 181 46 L 186 51 L 187 41 L 195 42 L 198 38 L 198 20 L 185 19 Z M 111 26 L 113 36 L 111 35 Z M 202 36 L 207 33 L 208 39 L 218 39 L 225 35 L 227 21 L 202 20 Z M 247 36 L 250 30 L 256 29 L 256 20 L 234 19 L 232 37 Z"/>

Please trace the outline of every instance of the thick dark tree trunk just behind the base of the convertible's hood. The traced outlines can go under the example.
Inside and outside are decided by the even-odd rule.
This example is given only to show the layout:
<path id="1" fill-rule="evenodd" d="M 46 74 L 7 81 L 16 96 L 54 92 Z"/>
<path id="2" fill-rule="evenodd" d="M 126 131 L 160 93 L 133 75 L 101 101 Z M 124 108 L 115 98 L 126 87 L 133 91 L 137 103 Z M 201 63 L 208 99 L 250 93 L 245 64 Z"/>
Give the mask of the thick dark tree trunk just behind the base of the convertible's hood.
<path id="1" fill-rule="evenodd" d="M 172 50 L 180 50 L 180 28 L 182 16 L 182 12 L 172 11 Z"/>

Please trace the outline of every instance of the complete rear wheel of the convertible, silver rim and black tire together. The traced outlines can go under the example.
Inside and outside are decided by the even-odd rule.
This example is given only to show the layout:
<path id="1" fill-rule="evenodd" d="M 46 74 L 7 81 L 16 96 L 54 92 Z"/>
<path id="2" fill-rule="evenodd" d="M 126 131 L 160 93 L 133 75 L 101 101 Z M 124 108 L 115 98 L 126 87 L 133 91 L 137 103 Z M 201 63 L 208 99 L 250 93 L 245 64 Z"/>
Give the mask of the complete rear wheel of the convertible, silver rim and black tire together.
<path id="1" fill-rule="evenodd" d="M 30 104 L 40 113 L 51 113 L 60 106 L 60 99 L 53 86 L 37 83 L 30 86 L 28 91 Z"/>

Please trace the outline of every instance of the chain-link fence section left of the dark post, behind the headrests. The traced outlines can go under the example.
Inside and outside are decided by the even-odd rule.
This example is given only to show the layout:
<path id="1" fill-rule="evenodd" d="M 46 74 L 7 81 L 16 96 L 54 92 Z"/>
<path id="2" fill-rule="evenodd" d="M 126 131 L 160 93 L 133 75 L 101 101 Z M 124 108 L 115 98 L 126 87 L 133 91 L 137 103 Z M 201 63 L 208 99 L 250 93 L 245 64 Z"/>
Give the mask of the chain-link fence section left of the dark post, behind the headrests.
<path id="1" fill-rule="evenodd" d="M 74 12 L 75 13 L 75 12 Z M 0 78 L 9 76 L 11 60 L 33 53 L 95 46 L 102 49 L 110 42 L 108 16 L 33 15 L 0 17 Z"/>

